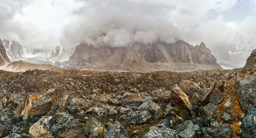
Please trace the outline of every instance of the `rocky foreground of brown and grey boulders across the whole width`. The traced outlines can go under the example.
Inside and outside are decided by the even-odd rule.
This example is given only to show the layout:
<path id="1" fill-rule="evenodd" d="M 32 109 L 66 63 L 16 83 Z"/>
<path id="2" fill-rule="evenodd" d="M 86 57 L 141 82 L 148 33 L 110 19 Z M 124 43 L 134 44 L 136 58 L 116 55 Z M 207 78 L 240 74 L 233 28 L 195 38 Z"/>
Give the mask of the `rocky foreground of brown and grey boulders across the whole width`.
<path id="1" fill-rule="evenodd" d="M 0 71 L 0 137 L 256 136 L 256 72 Z"/>

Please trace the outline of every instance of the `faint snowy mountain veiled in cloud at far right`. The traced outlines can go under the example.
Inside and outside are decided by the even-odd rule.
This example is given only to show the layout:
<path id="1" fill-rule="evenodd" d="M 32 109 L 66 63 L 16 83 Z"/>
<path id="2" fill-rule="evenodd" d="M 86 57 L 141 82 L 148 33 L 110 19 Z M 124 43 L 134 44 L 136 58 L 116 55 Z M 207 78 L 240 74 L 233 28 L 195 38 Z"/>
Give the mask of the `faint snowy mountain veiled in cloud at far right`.
<path id="1" fill-rule="evenodd" d="M 250 53 L 256 48 L 256 39 L 253 38 L 253 31 L 244 32 L 234 25 L 228 25 L 234 28 L 233 44 L 218 43 L 211 48 L 211 51 L 218 64 L 231 68 L 241 68 L 245 65 Z"/>

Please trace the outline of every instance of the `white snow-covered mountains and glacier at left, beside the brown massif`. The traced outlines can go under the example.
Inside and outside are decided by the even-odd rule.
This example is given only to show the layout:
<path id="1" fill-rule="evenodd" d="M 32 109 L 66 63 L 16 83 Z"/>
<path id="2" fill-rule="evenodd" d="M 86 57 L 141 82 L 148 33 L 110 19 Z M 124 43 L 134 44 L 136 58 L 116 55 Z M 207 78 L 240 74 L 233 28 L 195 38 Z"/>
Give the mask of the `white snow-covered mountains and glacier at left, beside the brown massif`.
<path id="1" fill-rule="evenodd" d="M 0 39 L 6 50 L 10 61 L 23 60 L 35 64 L 54 64 L 55 62 L 67 61 L 74 50 L 65 50 L 58 46 L 53 50 L 28 50 L 25 46 L 16 41 Z"/>

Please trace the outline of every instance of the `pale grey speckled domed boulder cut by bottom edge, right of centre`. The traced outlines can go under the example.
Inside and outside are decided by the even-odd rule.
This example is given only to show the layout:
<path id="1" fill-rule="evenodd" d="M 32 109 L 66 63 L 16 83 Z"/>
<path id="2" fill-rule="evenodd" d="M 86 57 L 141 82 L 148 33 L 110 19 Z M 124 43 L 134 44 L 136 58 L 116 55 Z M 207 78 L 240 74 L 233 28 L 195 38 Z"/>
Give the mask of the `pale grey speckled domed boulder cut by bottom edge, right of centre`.
<path id="1" fill-rule="evenodd" d="M 179 138 L 179 136 L 175 133 L 174 130 L 160 126 L 160 127 L 152 127 L 143 138 Z"/>

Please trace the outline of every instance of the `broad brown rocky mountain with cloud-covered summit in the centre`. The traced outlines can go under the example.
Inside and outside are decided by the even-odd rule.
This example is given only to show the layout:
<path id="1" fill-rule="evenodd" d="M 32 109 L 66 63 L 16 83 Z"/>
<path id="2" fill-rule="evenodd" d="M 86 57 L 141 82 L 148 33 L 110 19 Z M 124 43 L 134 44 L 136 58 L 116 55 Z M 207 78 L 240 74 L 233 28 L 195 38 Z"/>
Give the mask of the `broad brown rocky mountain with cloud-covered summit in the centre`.
<path id="1" fill-rule="evenodd" d="M 165 42 L 148 45 L 131 43 L 126 47 L 111 47 L 110 45 L 95 47 L 82 42 L 70 56 L 68 64 L 79 69 L 142 72 L 221 69 L 220 65 L 212 59 L 213 57 L 206 47 L 196 48 L 182 40 L 171 44 Z"/>

